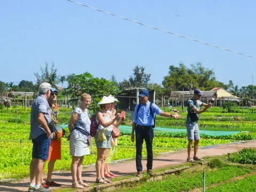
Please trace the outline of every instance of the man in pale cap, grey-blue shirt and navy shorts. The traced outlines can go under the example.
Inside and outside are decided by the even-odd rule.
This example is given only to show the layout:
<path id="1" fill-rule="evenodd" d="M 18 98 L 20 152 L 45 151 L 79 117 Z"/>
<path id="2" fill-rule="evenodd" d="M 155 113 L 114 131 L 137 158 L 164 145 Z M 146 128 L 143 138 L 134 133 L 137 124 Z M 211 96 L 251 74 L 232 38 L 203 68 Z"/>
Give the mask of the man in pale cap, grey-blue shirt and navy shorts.
<path id="1" fill-rule="evenodd" d="M 51 145 L 51 130 L 49 123 L 52 121 L 51 111 L 47 99 L 51 94 L 51 85 L 42 83 L 39 85 L 39 95 L 31 107 L 30 137 L 33 142 L 32 159 L 30 162 L 30 186 L 29 192 L 49 192 L 41 185 L 41 175 L 44 169 L 45 160 L 49 155 Z"/>

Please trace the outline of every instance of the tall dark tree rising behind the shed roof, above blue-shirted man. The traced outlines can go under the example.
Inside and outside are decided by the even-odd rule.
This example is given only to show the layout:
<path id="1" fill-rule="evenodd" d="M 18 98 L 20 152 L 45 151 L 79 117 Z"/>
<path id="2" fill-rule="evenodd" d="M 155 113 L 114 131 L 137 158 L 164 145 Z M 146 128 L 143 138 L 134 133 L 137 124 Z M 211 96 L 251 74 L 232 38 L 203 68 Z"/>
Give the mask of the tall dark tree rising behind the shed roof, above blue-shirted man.
<path id="1" fill-rule="evenodd" d="M 119 83 L 120 89 L 130 89 L 132 87 L 147 88 L 147 84 L 150 81 L 151 74 L 145 73 L 145 67 L 139 67 L 138 65 L 132 69 L 133 76 L 129 77 L 129 80 L 124 79 Z"/>

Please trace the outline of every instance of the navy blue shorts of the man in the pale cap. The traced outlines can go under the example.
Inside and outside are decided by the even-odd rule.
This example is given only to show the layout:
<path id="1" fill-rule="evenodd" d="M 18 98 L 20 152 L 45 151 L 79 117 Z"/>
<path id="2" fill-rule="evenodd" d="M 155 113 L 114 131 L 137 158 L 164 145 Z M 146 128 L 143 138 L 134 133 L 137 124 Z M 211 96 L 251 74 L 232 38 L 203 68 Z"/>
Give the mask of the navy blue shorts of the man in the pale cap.
<path id="1" fill-rule="evenodd" d="M 36 139 L 32 139 L 33 150 L 32 158 L 46 160 L 49 156 L 49 148 L 51 145 L 51 139 L 47 138 L 47 134 L 38 135 Z"/>

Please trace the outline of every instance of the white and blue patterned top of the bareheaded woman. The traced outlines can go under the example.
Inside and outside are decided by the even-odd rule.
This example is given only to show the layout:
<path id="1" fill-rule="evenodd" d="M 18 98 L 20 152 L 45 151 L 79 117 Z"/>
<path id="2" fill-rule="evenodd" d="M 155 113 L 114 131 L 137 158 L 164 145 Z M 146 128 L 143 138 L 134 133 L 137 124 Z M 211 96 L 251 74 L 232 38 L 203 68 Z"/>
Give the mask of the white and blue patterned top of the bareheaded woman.
<path id="1" fill-rule="evenodd" d="M 71 134 L 75 136 L 78 135 L 80 138 L 87 139 L 87 136 L 76 130 L 75 127 L 78 127 L 90 133 L 91 120 L 89 118 L 89 110 L 85 109 L 85 111 L 83 112 L 81 108 L 77 107 L 72 113 L 77 113 L 79 115 L 79 118 L 77 119 L 77 122 L 75 123 L 74 129 Z"/>

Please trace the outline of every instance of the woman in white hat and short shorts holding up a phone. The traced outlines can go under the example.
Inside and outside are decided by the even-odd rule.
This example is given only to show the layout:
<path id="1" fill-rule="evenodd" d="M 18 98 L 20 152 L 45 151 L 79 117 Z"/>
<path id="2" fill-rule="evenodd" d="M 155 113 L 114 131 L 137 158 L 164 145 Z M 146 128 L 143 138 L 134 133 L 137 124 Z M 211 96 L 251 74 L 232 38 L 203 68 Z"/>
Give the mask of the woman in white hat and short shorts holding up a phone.
<path id="1" fill-rule="evenodd" d="M 112 127 L 117 127 L 122 122 L 122 118 L 119 118 L 121 114 L 118 114 L 115 118 L 111 118 L 111 115 L 108 113 L 111 103 L 113 102 L 113 98 L 104 96 L 98 103 L 101 110 L 96 115 L 96 119 L 99 122 L 99 126 L 95 134 L 95 144 L 97 146 L 97 161 L 95 165 L 97 174 L 96 183 L 111 183 L 110 180 L 104 177 L 105 159 L 107 158 L 109 149 L 111 148 Z M 116 122 L 118 118 L 119 120 Z"/>

